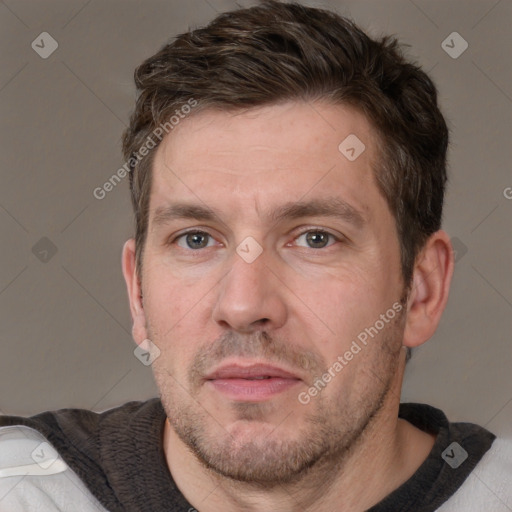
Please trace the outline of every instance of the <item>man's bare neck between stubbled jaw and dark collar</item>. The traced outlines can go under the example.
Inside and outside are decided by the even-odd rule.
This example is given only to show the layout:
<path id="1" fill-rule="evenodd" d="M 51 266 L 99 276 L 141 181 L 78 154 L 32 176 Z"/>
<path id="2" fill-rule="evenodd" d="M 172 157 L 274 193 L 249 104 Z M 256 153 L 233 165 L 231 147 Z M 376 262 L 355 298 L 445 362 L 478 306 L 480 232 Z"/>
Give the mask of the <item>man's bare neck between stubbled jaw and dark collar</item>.
<path id="1" fill-rule="evenodd" d="M 378 413 L 343 460 L 318 463 L 300 480 L 263 489 L 205 468 L 168 421 L 164 451 L 176 485 L 202 512 L 367 510 L 408 480 L 427 458 L 435 437 L 398 418 L 405 350 Z"/>

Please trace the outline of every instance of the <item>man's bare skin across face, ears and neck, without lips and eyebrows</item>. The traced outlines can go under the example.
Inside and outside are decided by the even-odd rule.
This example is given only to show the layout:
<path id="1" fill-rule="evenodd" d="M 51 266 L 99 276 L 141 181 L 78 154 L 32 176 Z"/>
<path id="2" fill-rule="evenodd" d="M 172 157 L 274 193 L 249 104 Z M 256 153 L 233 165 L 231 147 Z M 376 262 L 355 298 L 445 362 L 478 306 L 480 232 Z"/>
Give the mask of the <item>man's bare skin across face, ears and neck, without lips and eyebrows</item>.
<path id="1" fill-rule="evenodd" d="M 349 134 L 366 146 L 355 161 L 338 150 Z M 434 333 L 453 254 L 448 235 L 434 233 L 405 294 L 395 219 L 372 170 L 376 147 L 356 110 L 289 102 L 196 113 L 157 150 L 142 276 L 134 240 L 123 272 L 134 339 L 160 350 L 152 367 L 168 416 L 167 464 L 202 512 L 366 510 L 433 446 L 433 435 L 397 417 L 404 347 Z M 362 222 L 268 216 L 284 203 L 332 197 Z M 157 222 L 159 208 L 177 201 L 218 216 Z M 178 238 L 188 229 L 211 238 Z M 252 263 L 236 252 L 249 236 L 263 249 Z M 401 300 L 400 314 L 300 403 L 299 393 Z M 300 380 L 258 403 L 232 400 L 203 378 L 233 361 L 271 362 Z"/>

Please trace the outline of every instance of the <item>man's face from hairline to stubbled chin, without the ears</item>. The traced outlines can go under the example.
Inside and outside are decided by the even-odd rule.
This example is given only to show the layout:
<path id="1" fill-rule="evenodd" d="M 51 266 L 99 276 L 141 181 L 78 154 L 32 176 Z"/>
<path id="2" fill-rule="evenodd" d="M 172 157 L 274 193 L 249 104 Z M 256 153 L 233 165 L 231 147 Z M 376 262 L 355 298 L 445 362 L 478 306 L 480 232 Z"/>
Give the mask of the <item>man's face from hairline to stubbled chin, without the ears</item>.
<path id="1" fill-rule="evenodd" d="M 161 351 L 170 424 L 215 471 L 293 481 L 382 407 L 404 310 L 378 163 L 366 119 L 326 103 L 204 111 L 158 148 L 135 331 Z"/>

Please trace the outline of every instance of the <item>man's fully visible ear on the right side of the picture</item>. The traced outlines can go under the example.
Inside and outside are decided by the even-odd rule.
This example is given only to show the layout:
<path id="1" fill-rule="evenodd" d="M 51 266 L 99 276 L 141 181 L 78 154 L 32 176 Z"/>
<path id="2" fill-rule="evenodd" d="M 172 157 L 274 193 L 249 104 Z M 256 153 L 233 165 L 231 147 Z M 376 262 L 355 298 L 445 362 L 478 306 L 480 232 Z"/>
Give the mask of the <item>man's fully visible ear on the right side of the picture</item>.
<path id="1" fill-rule="evenodd" d="M 434 334 L 448 301 L 453 268 L 450 237 L 445 231 L 436 231 L 427 240 L 414 265 L 407 301 L 405 346 L 417 347 Z"/>

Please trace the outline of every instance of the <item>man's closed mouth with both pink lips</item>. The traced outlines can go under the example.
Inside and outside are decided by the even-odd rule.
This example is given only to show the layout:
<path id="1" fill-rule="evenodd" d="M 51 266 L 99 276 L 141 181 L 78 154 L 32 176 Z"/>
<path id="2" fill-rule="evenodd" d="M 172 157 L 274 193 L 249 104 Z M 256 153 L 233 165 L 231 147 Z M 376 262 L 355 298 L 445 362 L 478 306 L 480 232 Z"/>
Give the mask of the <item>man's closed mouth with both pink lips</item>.
<path id="1" fill-rule="evenodd" d="M 205 381 L 230 400 L 261 402 L 289 390 L 302 379 L 276 366 L 231 364 L 218 368 Z"/>

